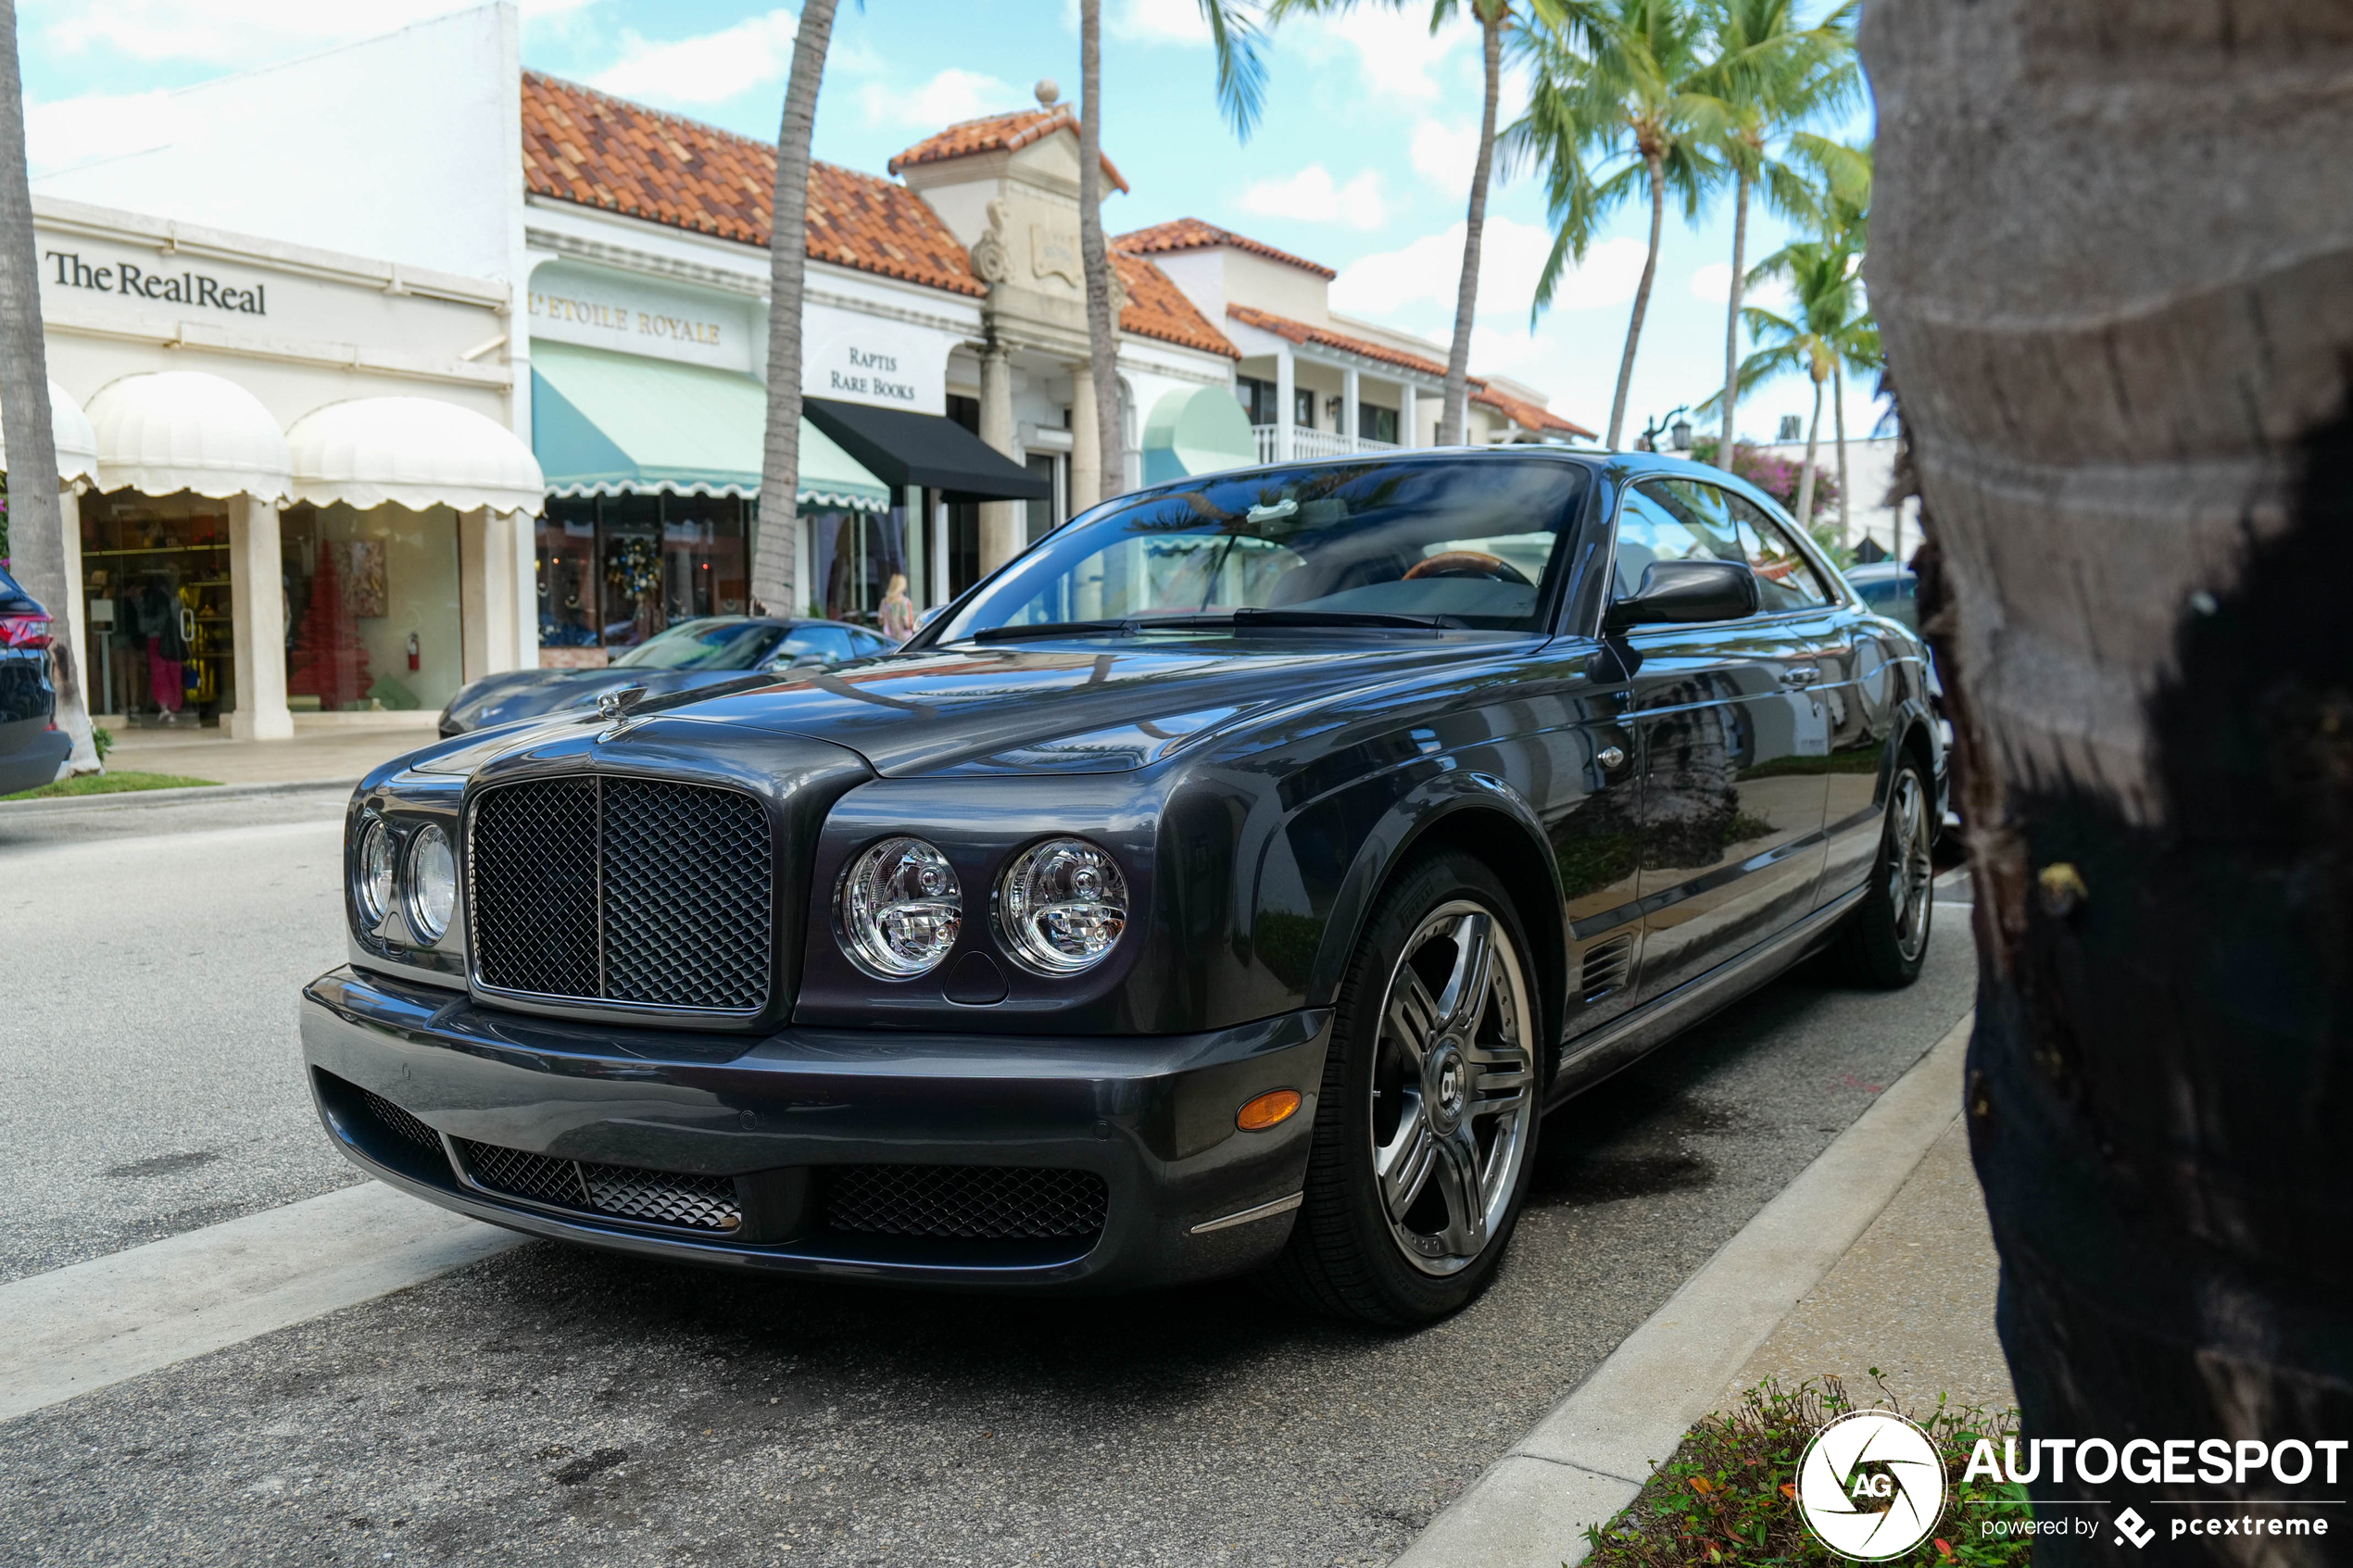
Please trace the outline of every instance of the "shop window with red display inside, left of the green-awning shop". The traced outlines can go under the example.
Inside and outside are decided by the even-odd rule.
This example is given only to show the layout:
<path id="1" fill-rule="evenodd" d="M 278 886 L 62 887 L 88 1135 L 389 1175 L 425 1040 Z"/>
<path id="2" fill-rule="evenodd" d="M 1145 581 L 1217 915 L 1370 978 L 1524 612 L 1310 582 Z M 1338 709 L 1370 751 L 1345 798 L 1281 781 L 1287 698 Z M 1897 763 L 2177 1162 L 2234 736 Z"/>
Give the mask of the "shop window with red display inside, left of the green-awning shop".
<path id="1" fill-rule="evenodd" d="M 294 505 L 280 517 L 287 708 L 435 710 L 466 684 L 456 512 Z"/>

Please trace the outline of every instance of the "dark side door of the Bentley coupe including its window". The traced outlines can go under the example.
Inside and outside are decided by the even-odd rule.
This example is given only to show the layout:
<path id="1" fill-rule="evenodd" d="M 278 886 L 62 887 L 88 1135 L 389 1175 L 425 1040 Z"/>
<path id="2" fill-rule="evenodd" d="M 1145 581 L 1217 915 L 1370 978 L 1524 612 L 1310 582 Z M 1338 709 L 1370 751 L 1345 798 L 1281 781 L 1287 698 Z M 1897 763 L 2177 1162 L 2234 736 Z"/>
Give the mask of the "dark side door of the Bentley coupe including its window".
<path id="1" fill-rule="evenodd" d="M 1649 477 L 1619 508 L 1617 592 L 1654 559 L 1758 567 L 1722 489 Z M 1685 985 L 1814 907 L 1828 724 L 1819 639 L 1828 607 L 1760 567 L 1760 614 L 1645 625 L 1624 637 L 1642 766 L 1638 999 Z"/>

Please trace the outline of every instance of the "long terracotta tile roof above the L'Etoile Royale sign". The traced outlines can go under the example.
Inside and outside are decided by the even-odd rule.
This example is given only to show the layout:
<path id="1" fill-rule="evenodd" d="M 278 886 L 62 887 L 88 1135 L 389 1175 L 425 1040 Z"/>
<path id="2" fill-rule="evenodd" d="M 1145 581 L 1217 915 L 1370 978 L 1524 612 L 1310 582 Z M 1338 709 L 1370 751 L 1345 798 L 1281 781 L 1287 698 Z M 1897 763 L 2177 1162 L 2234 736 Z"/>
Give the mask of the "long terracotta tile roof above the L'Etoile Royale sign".
<path id="1" fill-rule="evenodd" d="M 532 195 L 765 247 L 776 148 L 525 71 L 522 179 Z M 809 261 L 988 294 L 920 195 L 828 162 L 809 165 Z"/>

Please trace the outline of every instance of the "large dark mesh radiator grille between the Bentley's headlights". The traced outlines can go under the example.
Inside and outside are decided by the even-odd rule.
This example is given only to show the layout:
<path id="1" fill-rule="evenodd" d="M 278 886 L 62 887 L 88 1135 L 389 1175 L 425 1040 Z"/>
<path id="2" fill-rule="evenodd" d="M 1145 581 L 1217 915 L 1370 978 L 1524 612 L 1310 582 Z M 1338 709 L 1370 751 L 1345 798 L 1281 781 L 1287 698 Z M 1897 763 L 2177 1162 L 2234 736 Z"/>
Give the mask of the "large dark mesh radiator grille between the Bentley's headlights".
<path id="1" fill-rule="evenodd" d="M 767 1006 L 774 846 L 751 795 L 602 776 L 496 785 L 475 799 L 466 875 L 473 966 L 492 990 Z"/>

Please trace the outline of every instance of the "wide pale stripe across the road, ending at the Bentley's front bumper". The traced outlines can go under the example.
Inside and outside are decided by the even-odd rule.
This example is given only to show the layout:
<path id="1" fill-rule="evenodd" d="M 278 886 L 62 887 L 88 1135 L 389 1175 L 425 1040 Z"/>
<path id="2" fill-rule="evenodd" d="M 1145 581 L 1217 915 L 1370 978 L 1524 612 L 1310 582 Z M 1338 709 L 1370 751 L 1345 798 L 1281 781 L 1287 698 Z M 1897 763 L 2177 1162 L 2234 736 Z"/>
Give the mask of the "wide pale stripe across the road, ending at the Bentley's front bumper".
<path id="1" fill-rule="evenodd" d="M 384 1182 L 0 1286 L 0 1420 L 353 1307 L 522 1237 Z"/>

